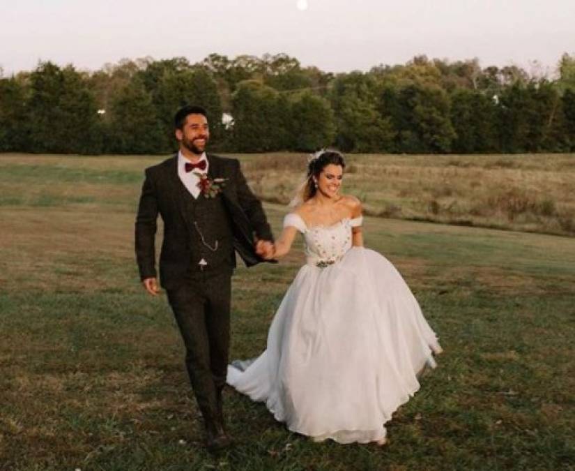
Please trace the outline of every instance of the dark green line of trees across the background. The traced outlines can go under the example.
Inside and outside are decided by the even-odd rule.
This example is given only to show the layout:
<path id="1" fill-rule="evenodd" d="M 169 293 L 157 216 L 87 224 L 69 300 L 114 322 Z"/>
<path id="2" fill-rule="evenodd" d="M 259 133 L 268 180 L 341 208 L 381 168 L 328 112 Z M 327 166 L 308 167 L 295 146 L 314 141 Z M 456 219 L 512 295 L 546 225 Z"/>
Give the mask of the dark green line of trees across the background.
<path id="1" fill-rule="evenodd" d="M 220 151 L 575 151 L 569 54 L 553 79 L 425 56 L 339 74 L 286 54 L 144 58 L 95 72 L 41 62 L 0 74 L 0 151 L 167 154 L 176 147 L 172 117 L 187 103 L 206 107 Z"/>

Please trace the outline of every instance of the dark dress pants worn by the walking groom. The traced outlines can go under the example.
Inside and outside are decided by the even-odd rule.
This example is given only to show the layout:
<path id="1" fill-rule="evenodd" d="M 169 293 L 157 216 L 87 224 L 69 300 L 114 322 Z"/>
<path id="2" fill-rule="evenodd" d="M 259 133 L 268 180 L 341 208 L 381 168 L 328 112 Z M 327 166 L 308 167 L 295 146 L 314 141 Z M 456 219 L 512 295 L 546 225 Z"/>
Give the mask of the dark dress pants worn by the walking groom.
<path id="1" fill-rule="evenodd" d="M 185 345 L 187 373 L 206 421 L 217 420 L 218 401 L 226 383 L 231 271 L 198 271 L 167 290 Z"/>

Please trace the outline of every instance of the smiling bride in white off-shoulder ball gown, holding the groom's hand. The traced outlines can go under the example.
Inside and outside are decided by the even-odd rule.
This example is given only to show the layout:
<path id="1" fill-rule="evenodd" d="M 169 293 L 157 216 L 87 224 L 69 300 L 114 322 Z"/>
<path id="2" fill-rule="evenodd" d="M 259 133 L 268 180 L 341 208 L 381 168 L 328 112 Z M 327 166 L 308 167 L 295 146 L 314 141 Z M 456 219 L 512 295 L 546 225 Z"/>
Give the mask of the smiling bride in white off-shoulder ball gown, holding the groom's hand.
<path id="1" fill-rule="evenodd" d="M 337 151 L 309 161 L 301 203 L 262 254 L 283 257 L 300 232 L 307 262 L 277 309 L 267 349 L 233 362 L 227 382 L 293 432 L 384 444 L 384 424 L 441 347 L 398 271 L 363 247 L 361 204 L 339 193 L 344 168 Z"/>

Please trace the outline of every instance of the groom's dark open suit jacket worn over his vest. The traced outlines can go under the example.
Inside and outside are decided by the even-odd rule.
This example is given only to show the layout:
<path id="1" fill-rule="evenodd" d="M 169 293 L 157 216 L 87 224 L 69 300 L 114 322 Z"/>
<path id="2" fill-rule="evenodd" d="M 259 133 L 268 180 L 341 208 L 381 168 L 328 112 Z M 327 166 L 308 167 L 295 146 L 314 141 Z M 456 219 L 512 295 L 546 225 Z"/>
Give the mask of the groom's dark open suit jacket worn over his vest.
<path id="1" fill-rule="evenodd" d="M 233 248 L 245 264 L 264 262 L 254 251 L 254 233 L 258 239 L 273 240 L 261 202 L 247 186 L 234 158 L 207 154 L 210 179 L 227 179 L 217 197 L 223 198 L 233 232 Z M 146 169 L 136 218 L 136 257 L 141 279 L 157 276 L 155 269 L 155 233 L 158 214 L 164 221 L 164 240 L 160 253 L 160 281 L 167 290 L 175 287 L 190 267 L 190 215 L 181 197 L 178 155 Z M 215 221 L 217 225 L 217 221 Z"/>

